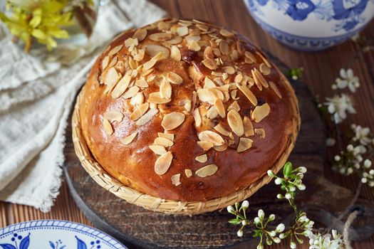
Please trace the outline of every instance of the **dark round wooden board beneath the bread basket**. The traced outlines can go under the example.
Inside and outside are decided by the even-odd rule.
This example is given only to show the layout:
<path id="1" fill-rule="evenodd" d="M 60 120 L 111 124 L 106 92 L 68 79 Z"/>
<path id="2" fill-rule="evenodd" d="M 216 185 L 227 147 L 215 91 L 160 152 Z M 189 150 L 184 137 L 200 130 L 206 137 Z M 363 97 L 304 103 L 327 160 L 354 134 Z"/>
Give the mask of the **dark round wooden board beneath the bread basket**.
<path id="1" fill-rule="evenodd" d="M 281 61 L 270 57 L 281 70 L 288 69 Z M 326 128 L 306 85 L 292 80 L 291 83 L 298 96 L 302 124 L 289 160 L 296 166 L 308 168 L 304 179 L 307 189 L 299 192 L 297 202 L 303 210 L 308 211 L 311 219 L 328 226 L 348 206 L 353 192 L 324 178 Z M 70 125 L 66 136 L 64 171 L 74 200 L 96 227 L 130 248 L 218 248 L 244 242 L 246 247 L 254 247 L 250 245 L 251 234 L 248 230 L 242 238 L 237 237 L 237 228 L 227 222 L 231 215 L 226 210 L 197 216 L 175 216 L 147 211 L 110 194 L 80 166 L 71 141 Z M 293 218 L 291 208 L 285 201 L 276 199 L 278 193 L 279 186 L 271 183 L 251 196 L 250 210 L 254 211 L 251 216 L 263 208 L 268 214 L 276 214 L 274 223 L 289 222 Z M 363 216 L 355 221 L 350 238 L 368 238 L 374 231 L 374 203 L 359 199 L 355 208 L 360 208 Z M 336 223 L 335 227 L 341 229 L 343 223 Z"/>

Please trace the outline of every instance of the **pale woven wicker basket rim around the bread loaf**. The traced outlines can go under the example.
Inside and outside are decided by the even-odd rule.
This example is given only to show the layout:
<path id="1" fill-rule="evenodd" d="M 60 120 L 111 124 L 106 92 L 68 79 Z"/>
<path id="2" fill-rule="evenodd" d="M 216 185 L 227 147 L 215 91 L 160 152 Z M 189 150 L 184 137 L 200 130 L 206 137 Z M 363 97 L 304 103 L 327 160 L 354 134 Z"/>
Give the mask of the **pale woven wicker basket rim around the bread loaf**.
<path id="1" fill-rule="evenodd" d="M 292 133 L 289 135 L 287 139 L 286 149 L 272 167 L 273 171 L 275 172 L 278 172 L 279 169 L 282 168 L 287 158 L 289 157 L 289 154 L 294 148 L 296 137 L 301 123 L 298 111 L 298 101 L 296 99 L 296 95 L 294 94 L 294 89 L 291 87 L 289 81 L 286 80 L 286 78 L 284 78 L 284 83 L 286 83 L 287 88 L 289 88 L 289 96 L 287 97 L 289 97 L 291 100 L 291 107 L 293 108 L 293 113 L 295 113 L 296 116 L 292 117 Z M 228 196 L 213 198 L 211 200 L 204 202 L 165 200 L 162 198 L 157 198 L 155 196 L 140 193 L 139 191 L 136 191 L 135 189 L 132 189 L 129 186 L 123 185 L 122 183 L 120 183 L 120 181 L 114 179 L 113 176 L 110 176 L 110 174 L 108 174 L 108 172 L 106 172 L 105 169 L 103 169 L 103 167 L 101 167 L 100 164 L 98 164 L 98 162 L 95 161 L 95 159 L 91 155 L 90 150 L 88 149 L 87 144 L 85 143 L 85 139 L 83 137 L 83 133 L 80 127 L 80 95 L 81 92 L 77 97 L 72 118 L 73 143 L 76 154 L 85 171 L 87 171 L 88 174 L 90 174 L 90 176 L 100 186 L 112 192 L 113 194 L 115 194 L 115 196 L 118 196 L 119 198 L 128 201 L 129 203 L 133 203 L 137 206 L 142 206 L 143 208 L 147 208 L 152 211 L 158 211 L 163 213 L 188 215 L 197 213 L 207 213 L 225 208 L 238 201 L 242 201 L 248 198 L 257 190 L 259 190 L 261 186 L 264 186 L 264 184 L 268 184 L 271 180 L 271 178 L 267 174 L 264 174 L 264 176 L 262 176 L 260 179 L 258 179 L 251 185 L 234 191 L 232 194 L 229 194 Z"/>

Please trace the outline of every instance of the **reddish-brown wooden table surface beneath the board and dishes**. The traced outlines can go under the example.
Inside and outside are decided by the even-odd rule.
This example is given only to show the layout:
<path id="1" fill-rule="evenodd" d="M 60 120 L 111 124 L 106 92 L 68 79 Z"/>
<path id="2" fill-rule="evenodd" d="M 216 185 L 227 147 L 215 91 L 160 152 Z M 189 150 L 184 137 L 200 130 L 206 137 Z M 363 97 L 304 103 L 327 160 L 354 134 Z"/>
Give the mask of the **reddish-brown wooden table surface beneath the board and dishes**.
<path id="1" fill-rule="evenodd" d="M 254 20 L 249 16 L 248 11 L 241 0 L 152 0 L 173 17 L 198 18 L 205 21 L 219 23 L 248 36 L 256 45 L 267 51 L 289 65 L 290 68 L 303 67 L 303 81 L 308 84 L 311 90 L 324 97 L 332 96 L 331 84 L 338 76 L 340 68 L 346 68 L 352 61 L 360 46 L 353 41 L 348 41 L 319 53 L 301 53 L 293 51 L 276 42 L 271 36 L 261 30 Z M 374 37 L 374 22 L 372 21 L 363 31 L 365 36 Z M 374 52 L 359 55 L 350 63 L 350 67 L 360 78 L 360 88 L 355 93 L 355 108 L 357 115 L 349 115 L 346 124 L 357 123 L 374 129 Z M 346 177 L 334 173 L 326 166 L 326 176 L 341 186 L 355 189 L 358 179 Z M 374 200 L 374 190 L 364 187 L 361 196 Z M 328 196 L 326 196 L 327 198 Z M 266 209 L 266 208 L 265 208 Z M 58 196 L 51 212 L 42 213 L 28 206 L 15 205 L 0 202 L 0 227 L 21 221 L 35 219 L 54 218 L 68 221 L 75 221 L 90 225 L 83 213 L 79 211 L 71 198 L 66 183 L 63 182 L 61 194 Z M 374 226 L 374 224 L 373 224 Z M 233 227 L 233 232 L 236 228 Z M 374 236 L 370 239 L 353 243 L 354 248 L 374 248 Z M 246 248 L 239 245 L 236 248 Z M 281 243 L 274 248 L 289 248 L 287 243 Z M 300 248 L 308 248 L 303 245 Z"/>

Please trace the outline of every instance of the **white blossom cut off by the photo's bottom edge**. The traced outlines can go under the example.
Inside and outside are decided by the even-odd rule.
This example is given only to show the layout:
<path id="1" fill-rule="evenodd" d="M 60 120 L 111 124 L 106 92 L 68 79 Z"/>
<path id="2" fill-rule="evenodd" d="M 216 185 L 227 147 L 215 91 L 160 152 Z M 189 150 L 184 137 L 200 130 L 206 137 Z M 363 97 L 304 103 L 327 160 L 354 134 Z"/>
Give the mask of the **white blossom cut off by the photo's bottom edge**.
<path id="1" fill-rule="evenodd" d="M 309 249 L 341 249 L 343 248 L 343 240 L 341 239 L 341 235 L 336 233 L 333 230 L 332 235 L 330 233 L 321 235 L 318 234 L 311 234 L 309 236 Z"/>

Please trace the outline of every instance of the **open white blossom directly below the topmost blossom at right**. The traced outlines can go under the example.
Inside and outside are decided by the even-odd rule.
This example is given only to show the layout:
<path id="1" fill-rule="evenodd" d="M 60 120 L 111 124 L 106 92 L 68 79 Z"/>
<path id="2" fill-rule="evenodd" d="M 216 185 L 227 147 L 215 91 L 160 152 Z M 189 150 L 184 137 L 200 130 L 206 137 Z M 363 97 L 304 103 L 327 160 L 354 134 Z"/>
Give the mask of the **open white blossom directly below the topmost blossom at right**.
<path id="1" fill-rule="evenodd" d="M 342 93 L 341 96 L 336 95 L 334 97 L 326 97 L 326 100 L 328 102 L 325 102 L 324 105 L 327 106 L 327 110 L 332 115 L 331 118 L 336 124 L 341 123 L 346 119 L 346 112 L 350 114 L 355 113 L 352 100 L 350 100 L 350 97 L 344 93 Z"/>

